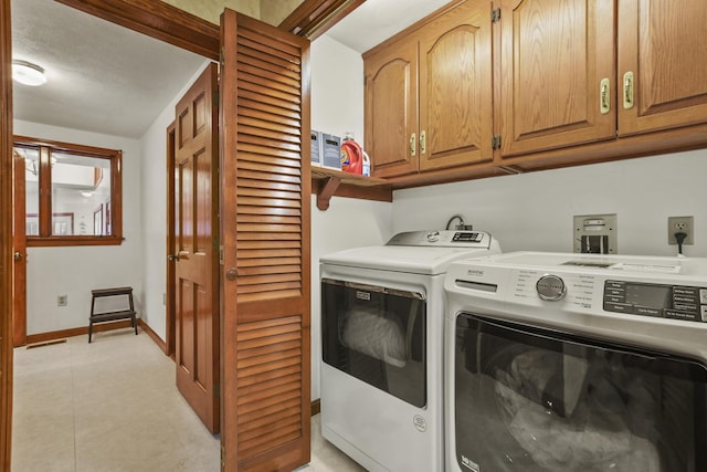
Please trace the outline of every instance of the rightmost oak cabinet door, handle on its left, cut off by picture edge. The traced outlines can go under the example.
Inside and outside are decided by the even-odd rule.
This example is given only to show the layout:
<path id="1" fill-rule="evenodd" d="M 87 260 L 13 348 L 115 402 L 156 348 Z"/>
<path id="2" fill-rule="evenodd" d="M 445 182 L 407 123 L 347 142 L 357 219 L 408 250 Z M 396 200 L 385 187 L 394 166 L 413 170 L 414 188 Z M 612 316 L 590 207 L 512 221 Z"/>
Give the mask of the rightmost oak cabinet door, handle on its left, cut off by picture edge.
<path id="1" fill-rule="evenodd" d="M 619 134 L 707 122 L 707 1 L 621 0 Z"/>

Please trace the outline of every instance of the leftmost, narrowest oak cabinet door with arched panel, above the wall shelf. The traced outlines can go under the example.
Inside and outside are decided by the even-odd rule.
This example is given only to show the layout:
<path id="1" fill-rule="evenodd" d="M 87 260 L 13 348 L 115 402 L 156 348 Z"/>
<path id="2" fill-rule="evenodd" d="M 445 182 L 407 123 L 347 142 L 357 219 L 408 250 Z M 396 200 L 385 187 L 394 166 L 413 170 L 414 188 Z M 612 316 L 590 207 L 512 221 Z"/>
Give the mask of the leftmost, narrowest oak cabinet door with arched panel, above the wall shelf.
<path id="1" fill-rule="evenodd" d="M 366 150 L 374 177 L 418 170 L 418 44 L 402 42 L 367 56 Z"/>

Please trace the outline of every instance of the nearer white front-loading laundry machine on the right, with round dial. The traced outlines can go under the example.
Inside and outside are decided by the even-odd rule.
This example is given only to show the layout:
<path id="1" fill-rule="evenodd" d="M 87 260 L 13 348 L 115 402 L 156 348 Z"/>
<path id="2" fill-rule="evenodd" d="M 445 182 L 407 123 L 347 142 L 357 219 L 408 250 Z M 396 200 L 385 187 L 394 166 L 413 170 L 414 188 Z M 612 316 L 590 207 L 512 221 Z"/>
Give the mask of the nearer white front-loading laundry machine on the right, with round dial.
<path id="1" fill-rule="evenodd" d="M 707 259 L 450 265 L 447 472 L 707 471 Z"/>

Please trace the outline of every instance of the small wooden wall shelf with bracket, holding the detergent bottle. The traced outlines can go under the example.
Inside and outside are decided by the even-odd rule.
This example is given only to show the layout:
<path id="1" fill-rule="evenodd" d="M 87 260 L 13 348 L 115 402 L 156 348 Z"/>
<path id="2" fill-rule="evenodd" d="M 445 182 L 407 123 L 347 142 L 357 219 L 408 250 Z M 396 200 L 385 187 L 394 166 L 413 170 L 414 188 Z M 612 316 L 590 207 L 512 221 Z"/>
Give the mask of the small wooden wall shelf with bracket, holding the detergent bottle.
<path id="1" fill-rule="evenodd" d="M 386 179 L 315 166 L 312 167 L 312 192 L 317 195 L 317 208 L 321 211 L 329 208 L 334 196 L 393 201 L 392 186 Z"/>

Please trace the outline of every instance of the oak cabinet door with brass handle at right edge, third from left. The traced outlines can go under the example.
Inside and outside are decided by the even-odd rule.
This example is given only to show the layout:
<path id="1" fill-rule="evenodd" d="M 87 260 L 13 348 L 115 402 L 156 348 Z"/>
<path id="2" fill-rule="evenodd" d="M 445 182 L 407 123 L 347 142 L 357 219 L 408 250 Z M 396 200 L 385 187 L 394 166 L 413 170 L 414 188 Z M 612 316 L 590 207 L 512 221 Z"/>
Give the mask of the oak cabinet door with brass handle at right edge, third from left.
<path id="1" fill-rule="evenodd" d="M 613 138 L 614 0 L 500 4 L 503 157 Z"/>

